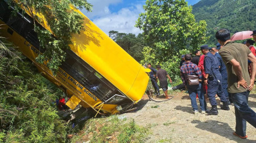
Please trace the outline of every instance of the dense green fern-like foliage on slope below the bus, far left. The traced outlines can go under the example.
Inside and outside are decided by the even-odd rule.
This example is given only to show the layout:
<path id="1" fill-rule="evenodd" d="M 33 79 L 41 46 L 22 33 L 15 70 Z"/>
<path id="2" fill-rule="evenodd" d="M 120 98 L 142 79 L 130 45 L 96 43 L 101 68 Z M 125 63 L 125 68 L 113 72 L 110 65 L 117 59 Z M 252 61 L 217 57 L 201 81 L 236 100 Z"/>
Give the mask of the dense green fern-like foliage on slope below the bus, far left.
<path id="1" fill-rule="evenodd" d="M 65 124 L 51 104 L 61 91 L 0 41 L 0 141 L 65 142 Z"/>

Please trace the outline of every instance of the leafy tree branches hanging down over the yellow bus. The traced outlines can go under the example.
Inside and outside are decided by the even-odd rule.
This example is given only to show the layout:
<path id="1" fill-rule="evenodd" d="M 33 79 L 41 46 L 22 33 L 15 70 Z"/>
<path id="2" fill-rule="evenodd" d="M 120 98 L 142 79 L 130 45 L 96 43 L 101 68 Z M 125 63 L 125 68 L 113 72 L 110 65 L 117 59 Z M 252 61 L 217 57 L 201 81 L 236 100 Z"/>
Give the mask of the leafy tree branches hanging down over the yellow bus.
<path id="1" fill-rule="evenodd" d="M 20 0 L 16 3 L 14 0 L 15 10 L 20 11 L 23 7 L 23 12 L 27 11 L 34 19 L 34 29 L 38 33 L 40 48 L 45 49 L 43 54 L 40 54 L 36 60 L 43 63 L 48 60 L 47 66 L 55 72 L 58 66 L 65 59 L 65 49 L 69 49 L 69 44 L 72 44 L 71 37 L 74 33 L 79 33 L 84 27 L 82 26 L 83 17 L 76 11 L 76 7 L 85 7 L 90 11 L 92 5 L 86 0 L 62 0 L 62 1 L 28 1 Z M 72 6 L 74 5 L 74 6 Z M 44 25 L 48 25 L 49 29 L 43 29 L 36 25 L 35 21 Z M 45 22 L 45 23 L 44 23 Z"/>

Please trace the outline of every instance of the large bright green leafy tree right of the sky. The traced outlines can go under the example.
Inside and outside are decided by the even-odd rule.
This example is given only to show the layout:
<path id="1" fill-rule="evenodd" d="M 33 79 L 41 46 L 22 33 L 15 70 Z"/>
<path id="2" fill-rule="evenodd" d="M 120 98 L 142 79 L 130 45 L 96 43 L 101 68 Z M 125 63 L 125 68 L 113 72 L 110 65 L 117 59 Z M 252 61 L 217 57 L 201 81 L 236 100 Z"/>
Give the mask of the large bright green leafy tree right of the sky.
<path id="1" fill-rule="evenodd" d="M 198 49 L 207 40 L 206 23 L 196 23 L 185 0 L 147 0 L 135 27 L 143 30 L 147 44 L 159 62 L 166 62 L 181 49 Z"/>

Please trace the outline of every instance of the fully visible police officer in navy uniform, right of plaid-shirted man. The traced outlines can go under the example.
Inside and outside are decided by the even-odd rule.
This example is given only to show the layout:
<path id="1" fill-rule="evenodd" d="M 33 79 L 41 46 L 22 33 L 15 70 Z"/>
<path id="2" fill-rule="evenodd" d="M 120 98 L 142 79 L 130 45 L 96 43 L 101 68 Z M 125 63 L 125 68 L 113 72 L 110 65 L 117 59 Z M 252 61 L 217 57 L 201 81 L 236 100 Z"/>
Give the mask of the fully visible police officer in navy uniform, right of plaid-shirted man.
<path id="1" fill-rule="evenodd" d="M 208 45 L 203 45 L 200 47 L 201 52 L 205 54 L 204 58 L 204 70 L 205 70 L 205 78 L 204 78 L 204 84 L 208 86 L 207 94 L 210 101 L 210 105 L 212 106 L 212 109 L 207 111 L 210 115 L 217 115 L 217 102 L 215 99 L 216 93 L 220 97 L 221 101 L 223 102 L 223 105 L 221 106 L 221 109 L 223 110 L 229 110 L 228 100 L 225 97 L 224 92 L 222 91 L 221 86 L 221 73 L 218 70 L 218 58 L 216 55 L 213 55 L 209 52 Z"/>

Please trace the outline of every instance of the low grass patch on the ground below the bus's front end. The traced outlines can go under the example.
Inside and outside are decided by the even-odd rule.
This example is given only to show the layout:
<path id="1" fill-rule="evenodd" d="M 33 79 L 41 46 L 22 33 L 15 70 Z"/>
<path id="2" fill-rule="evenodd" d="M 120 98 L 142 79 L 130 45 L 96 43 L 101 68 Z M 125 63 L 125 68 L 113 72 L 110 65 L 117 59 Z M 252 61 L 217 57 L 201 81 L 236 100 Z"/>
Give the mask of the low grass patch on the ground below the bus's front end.
<path id="1" fill-rule="evenodd" d="M 144 142 L 150 127 L 140 127 L 134 120 L 118 119 L 116 115 L 89 119 L 79 135 L 70 142 Z"/>

